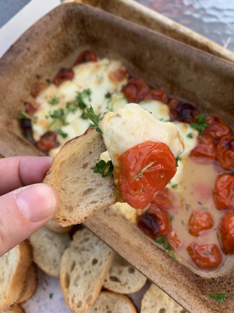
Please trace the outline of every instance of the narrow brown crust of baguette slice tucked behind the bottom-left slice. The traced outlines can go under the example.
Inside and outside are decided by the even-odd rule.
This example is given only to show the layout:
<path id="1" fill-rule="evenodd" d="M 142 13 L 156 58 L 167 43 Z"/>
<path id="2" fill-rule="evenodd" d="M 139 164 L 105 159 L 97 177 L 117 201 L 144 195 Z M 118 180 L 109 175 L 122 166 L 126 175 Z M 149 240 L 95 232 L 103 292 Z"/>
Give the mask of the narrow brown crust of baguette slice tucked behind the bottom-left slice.
<path id="1" fill-rule="evenodd" d="M 35 263 L 32 263 L 28 275 L 25 281 L 24 289 L 20 298 L 17 300 L 17 303 L 22 303 L 32 297 L 34 292 L 37 289 L 37 266 Z"/>

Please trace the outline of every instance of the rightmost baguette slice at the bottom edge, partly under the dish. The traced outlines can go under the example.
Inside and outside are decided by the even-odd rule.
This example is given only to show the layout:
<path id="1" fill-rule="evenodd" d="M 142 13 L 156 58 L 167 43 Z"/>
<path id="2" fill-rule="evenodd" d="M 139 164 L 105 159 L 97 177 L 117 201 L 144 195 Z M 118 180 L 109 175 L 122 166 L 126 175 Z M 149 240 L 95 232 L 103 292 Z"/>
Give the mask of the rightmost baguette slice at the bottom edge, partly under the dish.
<path id="1" fill-rule="evenodd" d="M 163 290 L 151 284 L 141 301 L 141 313 L 186 313 L 180 305 L 170 298 Z"/>

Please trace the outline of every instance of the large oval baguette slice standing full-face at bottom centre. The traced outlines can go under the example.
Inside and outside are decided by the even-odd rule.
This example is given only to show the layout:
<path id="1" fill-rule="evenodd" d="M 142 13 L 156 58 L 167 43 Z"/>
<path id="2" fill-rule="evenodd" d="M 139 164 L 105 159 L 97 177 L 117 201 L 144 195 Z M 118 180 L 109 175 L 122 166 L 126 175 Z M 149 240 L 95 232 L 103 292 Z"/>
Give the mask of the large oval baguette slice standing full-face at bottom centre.
<path id="1" fill-rule="evenodd" d="M 60 284 L 68 308 L 86 312 L 95 303 L 114 252 L 84 228 L 78 230 L 60 264 Z"/>

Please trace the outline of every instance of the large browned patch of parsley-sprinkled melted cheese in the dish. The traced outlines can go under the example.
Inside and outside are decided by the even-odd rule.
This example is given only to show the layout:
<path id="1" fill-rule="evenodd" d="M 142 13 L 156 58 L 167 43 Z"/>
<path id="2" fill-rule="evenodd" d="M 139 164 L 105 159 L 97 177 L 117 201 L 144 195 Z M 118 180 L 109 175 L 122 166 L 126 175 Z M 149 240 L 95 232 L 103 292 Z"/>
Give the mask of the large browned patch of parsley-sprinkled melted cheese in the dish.
<path id="1" fill-rule="evenodd" d="M 91 101 L 87 98 L 84 98 L 84 101 L 87 106 L 92 105 L 96 114 L 103 114 L 109 107 L 125 105 L 127 101 L 124 95 L 120 93 L 120 90 L 127 83 L 127 79 L 116 82 L 109 78 L 110 72 L 120 68 L 124 69 L 120 61 L 109 59 L 101 59 L 97 62 L 87 62 L 76 65 L 73 68 L 75 73 L 73 80 L 64 81 L 58 87 L 51 84 L 43 90 L 36 98 L 39 108 L 34 114 L 35 121 L 32 122 L 35 141 L 40 139 L 53 121 L 50 117 L 46 118 L 49 112 L 66 108 L 66 103 L 74 101 L 78 91 L 81 92 L 84 89 L 91 90 Z M 111 99 L 105 97 L 108 92 L 113 93 Z M 59 103 L 51 105 L 49 101 L 54 97 L 59 100 Z M 82 113 L 83 110 L 77 108 L 76 112 L 67 115 L 66 121 L 69 124 L 61 126 L 61 130 L 66 133 L 67 136 L 63 138 L 61 135 L 57 135 L 57 139 L 61 145 L 83 134 L 90 126 L 90 120 L 81 118 Z M 49 129 L 53 131 L 56 130 L 56 127 L 53 125 Z M 49 155 L 55 156 L 60 147 L 61 146 L 51 149 Z"/>

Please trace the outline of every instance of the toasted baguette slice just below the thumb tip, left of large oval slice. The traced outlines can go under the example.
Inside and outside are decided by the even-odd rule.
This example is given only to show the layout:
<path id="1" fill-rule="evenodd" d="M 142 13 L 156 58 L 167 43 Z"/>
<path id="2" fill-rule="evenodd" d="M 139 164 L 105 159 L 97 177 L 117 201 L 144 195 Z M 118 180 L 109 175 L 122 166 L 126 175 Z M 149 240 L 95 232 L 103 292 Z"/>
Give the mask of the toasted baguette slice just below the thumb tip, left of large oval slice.
<path id="1" fill-rule="evenodd" d="M 68 234 L 57 234 L 42 227 L 30 237 L 33 261 L 46 274 L 59 278 L 61 256 L 70 241 Z"/>

